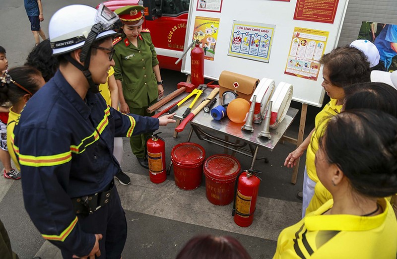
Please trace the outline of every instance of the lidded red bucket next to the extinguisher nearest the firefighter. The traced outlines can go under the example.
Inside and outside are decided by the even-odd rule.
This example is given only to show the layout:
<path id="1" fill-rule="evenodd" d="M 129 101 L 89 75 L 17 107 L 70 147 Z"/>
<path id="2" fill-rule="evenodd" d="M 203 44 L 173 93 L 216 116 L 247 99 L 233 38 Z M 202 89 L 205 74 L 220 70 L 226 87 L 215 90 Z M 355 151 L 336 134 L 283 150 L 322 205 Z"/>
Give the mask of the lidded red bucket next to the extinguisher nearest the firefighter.
<path id="1" fill-rule="evenodd" d="M 200 186 L 205 151 L 196 143 L 179 143 L 171 150 L 175 185 L 182 190 L 195 190 Z"/>

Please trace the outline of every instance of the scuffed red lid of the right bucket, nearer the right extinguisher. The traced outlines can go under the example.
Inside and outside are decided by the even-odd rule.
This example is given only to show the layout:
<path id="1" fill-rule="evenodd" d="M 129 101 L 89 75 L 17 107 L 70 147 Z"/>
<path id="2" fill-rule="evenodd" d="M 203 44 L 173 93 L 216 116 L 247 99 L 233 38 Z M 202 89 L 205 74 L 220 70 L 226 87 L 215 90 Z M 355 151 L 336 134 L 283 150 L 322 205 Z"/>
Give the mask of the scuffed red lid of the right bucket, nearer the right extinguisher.
<path id="1" fill-rule="evenodd" d="M 204 174 L 217 180 L 231 180 L 241 171 L 239 161 L 229 155 L 213 155 L 204 163 Z"/>

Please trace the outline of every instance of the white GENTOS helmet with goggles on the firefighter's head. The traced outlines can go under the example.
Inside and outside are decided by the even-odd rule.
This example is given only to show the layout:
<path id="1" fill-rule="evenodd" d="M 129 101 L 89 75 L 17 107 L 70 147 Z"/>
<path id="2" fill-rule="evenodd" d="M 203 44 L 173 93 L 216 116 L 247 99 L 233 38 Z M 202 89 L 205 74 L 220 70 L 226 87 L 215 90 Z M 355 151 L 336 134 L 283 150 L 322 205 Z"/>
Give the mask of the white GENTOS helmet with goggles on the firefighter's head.
<path id="1" fill-rule="evenodd" d="M 59 9 L 51 17 L 49 36 L 53 55 L 61 55 L 84 46 L 91 34 L 98 40 L 104 37 L 117 35 L 112 26 L 119 21 L 117 14 L 101 4 L 96 10 L 94 7 L 83 4 L 72 4 Z M 101 28 L 92 33 L 94 26 Z M 88 46 L 89 48 L 90 46 Z"/>

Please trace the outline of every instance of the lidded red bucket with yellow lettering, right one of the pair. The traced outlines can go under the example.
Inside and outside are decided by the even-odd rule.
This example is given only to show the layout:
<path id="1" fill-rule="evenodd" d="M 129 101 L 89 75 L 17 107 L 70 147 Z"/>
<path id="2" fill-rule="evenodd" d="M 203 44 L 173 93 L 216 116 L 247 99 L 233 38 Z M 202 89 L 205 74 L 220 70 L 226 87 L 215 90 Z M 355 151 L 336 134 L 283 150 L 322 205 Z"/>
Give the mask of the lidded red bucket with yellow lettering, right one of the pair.
<path id="1" fill-rule="evenodd" d="M 236 177 L 241 171 L 239 161 L 229 155 L 213 155 L 204 162 L 207 199 L 215 205 L 233 201 Z"/>

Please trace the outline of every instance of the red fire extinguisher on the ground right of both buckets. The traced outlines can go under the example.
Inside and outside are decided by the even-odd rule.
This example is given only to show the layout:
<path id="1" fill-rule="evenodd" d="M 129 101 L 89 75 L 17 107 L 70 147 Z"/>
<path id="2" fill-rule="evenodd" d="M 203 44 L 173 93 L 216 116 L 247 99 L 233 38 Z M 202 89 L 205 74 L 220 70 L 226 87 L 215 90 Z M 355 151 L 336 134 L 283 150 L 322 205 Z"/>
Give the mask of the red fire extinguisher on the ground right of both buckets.
<path id="1" fill-rule="evenodd" d="M 262 181 L 259 174 L 262 172 L 246 170 L 237 177 L 232 216 L 240 227 L 248 227 L 254 221 L 259 184 Z"/>

